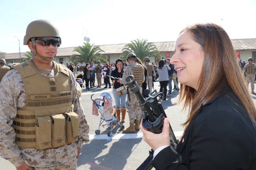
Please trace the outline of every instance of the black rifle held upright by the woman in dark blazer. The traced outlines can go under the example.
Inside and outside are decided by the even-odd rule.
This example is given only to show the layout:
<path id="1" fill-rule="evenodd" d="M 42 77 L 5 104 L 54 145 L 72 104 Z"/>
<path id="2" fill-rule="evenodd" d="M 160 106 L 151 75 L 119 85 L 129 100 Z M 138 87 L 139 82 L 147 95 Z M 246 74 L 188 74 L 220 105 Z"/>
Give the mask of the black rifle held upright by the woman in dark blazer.
<path id="1" fill-rule="evenodd" d="M 125 82 L 130 90 L 135 94 L 139 101 L 139 105 L 143 110 L 142 113 L 142 125 L 150 132 L 159 134 L 163 130 L 164 118 L 167 118 L 162 104 L 159 103 L 160 98 L 163 96 L 162 92 L 158 92 L 154 90 L 149 94 L 149 97 L 144 99 L 142 94 L 139 91 L 139 86 L 135 81 L 133 75 L 129 75 L 125 78 Z M 170 123 L 169 123 L 170 125 Z M 170 125 L 170 141 L 171 146 L 176 150 L 178 141 L 173 133 L 173 129 Z M 147 159 L 140 165 L 137 170 L 150 170 L 153 168 L 153 153 L 154 151 L 149 151 L 149 156 Z"/>

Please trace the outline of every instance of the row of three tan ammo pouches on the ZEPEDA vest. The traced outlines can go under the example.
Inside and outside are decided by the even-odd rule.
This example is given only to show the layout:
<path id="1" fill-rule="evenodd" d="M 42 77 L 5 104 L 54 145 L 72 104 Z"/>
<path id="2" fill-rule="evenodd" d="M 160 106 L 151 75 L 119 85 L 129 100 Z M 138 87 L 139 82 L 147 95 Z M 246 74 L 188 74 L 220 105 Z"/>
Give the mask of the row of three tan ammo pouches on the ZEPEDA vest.
<path id="1" fill-rule="evenodd" d="M 79 116 L 75 112 L 36 117 L 36 119 L 36 149 L 57 148 L 77 141 Z"/>

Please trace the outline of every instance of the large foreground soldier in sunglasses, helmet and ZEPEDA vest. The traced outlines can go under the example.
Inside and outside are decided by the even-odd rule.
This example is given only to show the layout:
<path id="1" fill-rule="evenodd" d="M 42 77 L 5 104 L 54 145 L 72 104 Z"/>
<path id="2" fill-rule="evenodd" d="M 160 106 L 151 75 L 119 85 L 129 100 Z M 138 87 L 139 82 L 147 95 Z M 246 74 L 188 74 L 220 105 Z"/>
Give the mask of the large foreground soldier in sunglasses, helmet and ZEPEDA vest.
<path id="1" fill-rule="evenodd" d="M 81 88 L 65 65 L 52 61 L 60 44 L 50 21 L 31 22 L 24 45 L 33 57 L 12 66 L 0 84 L 0 156 L 17 169 L 75 170 L 89 141 Z"/>

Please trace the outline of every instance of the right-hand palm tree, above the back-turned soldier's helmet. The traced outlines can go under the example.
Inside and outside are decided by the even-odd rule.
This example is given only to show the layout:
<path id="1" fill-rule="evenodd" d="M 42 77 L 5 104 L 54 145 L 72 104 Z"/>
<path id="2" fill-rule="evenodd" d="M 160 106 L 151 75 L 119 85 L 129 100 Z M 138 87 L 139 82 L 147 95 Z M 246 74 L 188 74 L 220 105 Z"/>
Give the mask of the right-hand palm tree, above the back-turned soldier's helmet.
<path id="1" fill-rule="evenodd" d="M 157 47 L 153 43 L 148 43 L 148 40 L 132 40 L 131 44 L 127 44 L 122 49 L 121 58 L 126 59 L 126 56 L 130 52 L 134 52 L 136 56 L 143 61 L 145 57 L 155 57 L 160 59 L 161 55 Z"/>

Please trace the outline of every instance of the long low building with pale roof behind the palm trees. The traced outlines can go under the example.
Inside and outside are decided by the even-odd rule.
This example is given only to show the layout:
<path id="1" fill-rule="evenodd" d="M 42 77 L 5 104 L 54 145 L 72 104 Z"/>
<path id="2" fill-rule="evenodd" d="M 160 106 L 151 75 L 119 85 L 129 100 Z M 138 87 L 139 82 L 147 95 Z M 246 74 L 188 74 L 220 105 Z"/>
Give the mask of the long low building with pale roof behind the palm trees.
<path id="1" fill-rule="evenodd" d="M 252 57 L 254 59 L 254 62 L 256 61 L 256 38 L 236 39 L 231 41 L 234 49 L 237 51 L 238 57 L 240 57 L 241 60 L 247 62 L 248 58 Z M 106 58 L 109 63 L 114 63 L 116 59 L 120 58 L 122 49 L 125 45 L 126 44 L 99 45 L 100 48 L 105 51 L 100 53 L 103 55 L 104 58 Z M 154 45 L 156 45 L 157 49 L 160 51 L 161 57 L 171 58 L 173 56 L 175 42 L 155 42 Z M 73 52 L 75 48 L 76 47 L 59 48 L 54 60 L 57 63 L 59 63 L 60 61 L 63 61 L 64 64 L 69 63 L 70 56 L 74 53 L 77 53 Z M 21 58 L 27 58 L 26 56 L 24 56 L 24 53 L 26 52 L 21 53 Z M 3 56 L 5 56 L 4 58 L 6 60 L 6 65 L 20 62 L 19 53 L 6 53 Z M 150 62 L 152 61 L 158 62 L 155 61 L 154 57 L 151 58 Z M 83 65 L 85 65 L 85 63 L 83 63 Z"/>

